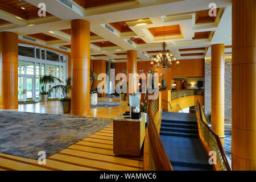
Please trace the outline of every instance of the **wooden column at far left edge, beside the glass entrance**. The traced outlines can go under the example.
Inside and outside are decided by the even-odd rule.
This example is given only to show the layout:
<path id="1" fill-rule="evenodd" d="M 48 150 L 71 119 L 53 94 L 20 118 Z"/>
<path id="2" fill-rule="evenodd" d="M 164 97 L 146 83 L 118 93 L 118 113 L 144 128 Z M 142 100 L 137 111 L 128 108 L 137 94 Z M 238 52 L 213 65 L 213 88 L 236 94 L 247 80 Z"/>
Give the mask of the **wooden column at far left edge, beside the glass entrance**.
<path id="1" fill-rule="evenodd" d="M 18 109 L 18 35 L 0 32 L 0 109 Z"/>

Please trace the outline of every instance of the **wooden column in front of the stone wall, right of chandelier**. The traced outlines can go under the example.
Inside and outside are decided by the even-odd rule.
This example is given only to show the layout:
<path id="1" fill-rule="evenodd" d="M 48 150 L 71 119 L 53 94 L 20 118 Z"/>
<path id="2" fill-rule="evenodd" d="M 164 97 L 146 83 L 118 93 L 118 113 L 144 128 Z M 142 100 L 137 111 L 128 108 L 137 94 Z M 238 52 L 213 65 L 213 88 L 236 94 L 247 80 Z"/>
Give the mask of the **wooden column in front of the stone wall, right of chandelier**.
<path id="1" fill-rule="evenodd" d="M 212 129 L 224 137 L 225 122 L 225 45 L 212 45 Z M 221 138 L 224 145 L 224 138 Z"/>

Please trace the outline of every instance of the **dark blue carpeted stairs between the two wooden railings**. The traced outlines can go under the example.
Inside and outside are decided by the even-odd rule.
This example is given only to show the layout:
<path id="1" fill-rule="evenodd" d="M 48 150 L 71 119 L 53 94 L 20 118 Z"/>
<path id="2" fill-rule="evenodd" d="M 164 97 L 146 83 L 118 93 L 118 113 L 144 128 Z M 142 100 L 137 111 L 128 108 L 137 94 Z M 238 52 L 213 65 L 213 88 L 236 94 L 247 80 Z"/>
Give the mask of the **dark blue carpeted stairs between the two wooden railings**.
<path id="1" fill-rule="evenodd" d="M 174 170 L 212 170 L 199 140 L 195 114 L 163 112 L 160 138 Z"/>

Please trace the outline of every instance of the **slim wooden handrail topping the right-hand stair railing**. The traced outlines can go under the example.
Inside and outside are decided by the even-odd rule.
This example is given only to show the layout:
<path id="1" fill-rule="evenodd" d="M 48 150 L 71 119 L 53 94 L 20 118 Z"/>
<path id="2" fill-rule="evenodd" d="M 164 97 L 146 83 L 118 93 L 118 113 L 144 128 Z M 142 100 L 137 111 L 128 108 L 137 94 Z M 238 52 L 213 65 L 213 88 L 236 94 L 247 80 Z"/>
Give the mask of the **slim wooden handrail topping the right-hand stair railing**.
<path id="1" fill-rule="evenodd" d="M 202 108 L 202 106 L 201 106 L 199 101 L 197 101 L 197 106 L 199 107 L 200 118 L 203 119 L 204 112 L 203 112 L 203 108 Z M 214 136 L 214 138 L 216 138 L 216 141 L 217 141 L 217 144 L 218 144 L 218 148 L 220 149 L 221 156 L 222 156 L 222 158 L 224 160 L 225 166 L 226 166 L 228 171 L 232 171 L 232 168 L 229 165 L 228 159 L 226 158 L 225 151 L 223 150 L 220 137 L 216 133 L 214 133 L 214 131 L 207 125 L 207 123 L 205 123 L 204 121 L 202 123 L 207 128 L 209 133 L 212 134 Z"/>

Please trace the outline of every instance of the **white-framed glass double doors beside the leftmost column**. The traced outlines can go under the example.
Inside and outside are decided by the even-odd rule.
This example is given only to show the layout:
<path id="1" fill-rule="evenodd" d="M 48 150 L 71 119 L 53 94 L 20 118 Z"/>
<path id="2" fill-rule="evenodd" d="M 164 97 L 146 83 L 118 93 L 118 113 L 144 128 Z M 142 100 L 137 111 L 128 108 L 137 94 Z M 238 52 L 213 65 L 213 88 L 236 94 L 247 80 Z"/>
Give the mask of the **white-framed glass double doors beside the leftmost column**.
<path id="1" fill-rule="evenodd" d="M 34 101 L 34 77 L 19 76 L 18 78 L 18 100 L 19 102 Z"/>

